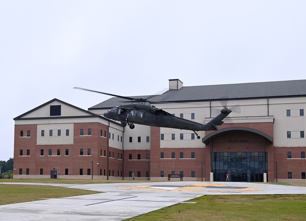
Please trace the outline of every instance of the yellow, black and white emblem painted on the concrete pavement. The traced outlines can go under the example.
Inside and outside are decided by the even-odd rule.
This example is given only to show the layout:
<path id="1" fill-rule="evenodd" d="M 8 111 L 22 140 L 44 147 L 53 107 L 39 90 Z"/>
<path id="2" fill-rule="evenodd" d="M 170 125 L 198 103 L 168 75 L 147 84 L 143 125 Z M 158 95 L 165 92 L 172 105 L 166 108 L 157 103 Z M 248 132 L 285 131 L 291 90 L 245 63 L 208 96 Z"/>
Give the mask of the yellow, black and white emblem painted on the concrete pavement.
<path id="1" fill-rule="evenodd" d="M 120 186 L 125 190 L 152 190 L 152 191 L 181 191 L 181 192 L 220 192 L 220 193 L 241 193 L 263 191 L 261 189 L 243 186 L 227 186 L 226 184 L 196 183 L 191 185 L 150 185 L 150 186 Z"/>

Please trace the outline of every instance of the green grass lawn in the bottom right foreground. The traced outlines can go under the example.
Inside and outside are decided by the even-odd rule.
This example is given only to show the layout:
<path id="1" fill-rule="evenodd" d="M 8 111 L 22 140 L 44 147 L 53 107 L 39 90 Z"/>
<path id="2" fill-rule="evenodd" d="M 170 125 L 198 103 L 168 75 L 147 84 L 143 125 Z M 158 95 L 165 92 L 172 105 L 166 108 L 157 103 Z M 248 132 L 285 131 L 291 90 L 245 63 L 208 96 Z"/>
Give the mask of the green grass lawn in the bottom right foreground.
<path id="1" fill-rule="evenodd" d="M 129 220 L 306 220 L 306 195 L 205 195 Z"/>

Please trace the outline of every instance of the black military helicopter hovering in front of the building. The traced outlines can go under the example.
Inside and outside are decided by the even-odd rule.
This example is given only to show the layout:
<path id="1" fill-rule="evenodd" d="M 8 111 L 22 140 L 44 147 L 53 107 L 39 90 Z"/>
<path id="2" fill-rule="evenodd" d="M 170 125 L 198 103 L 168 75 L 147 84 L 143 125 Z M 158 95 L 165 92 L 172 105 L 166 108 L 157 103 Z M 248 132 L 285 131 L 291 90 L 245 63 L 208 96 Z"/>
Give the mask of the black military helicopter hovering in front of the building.
<path id="1" fill-rule="evenodd" d="M 74 88 L 81 90 L 88 90 L 80 87 L 74 87 Z M 167 128 L 181 129 L 181 130 L 190 130 L 196 134 L 198 139 L 200 139 L 200 136 L 197 134 L 198 131 L 216 131 L 216 130 L 219 131 L 217 126 L 224 123 L 224 121 L 222 120 L 227 115 L 229 115 L 230 112 L 232 112 L 227 108 L 223 108 L 218 116 L 216 116 L 208 123 L 202 124 L 174 116 L 162 109 L 156 108 L 155 106 L 144 105 L 144 103 L 146 102 L 150 103 L 151 105 L 152 103 L 170 103 L 171 101 L 170 102 L 149 101 L 144 98 L 130 98 L 115 94 L 99 92 L 95 90 L 88 90 L 88 91 L 100 94 L 107 94 L 110 96 L 138 102 L 138 104 L 116 106 L 111 110 L 106 111 L 103 114 L 108 119 L 120 121 L 123 127 L 129 125 L 131 129 L 134 129 L 135 128 L 134 124 L 142 124 L 153 127 L 167 127 Z"/>

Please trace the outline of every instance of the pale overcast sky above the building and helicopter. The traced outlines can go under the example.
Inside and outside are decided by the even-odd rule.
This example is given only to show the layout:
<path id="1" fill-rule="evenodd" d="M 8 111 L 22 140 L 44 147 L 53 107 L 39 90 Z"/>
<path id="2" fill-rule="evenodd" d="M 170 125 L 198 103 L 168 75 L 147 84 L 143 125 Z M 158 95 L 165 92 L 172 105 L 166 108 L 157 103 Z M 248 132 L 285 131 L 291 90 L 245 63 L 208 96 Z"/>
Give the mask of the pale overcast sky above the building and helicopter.
<path id="1" fill-rule="evenodd" d="M 306 1 L 0 1 L 0 160 L 14 121 L 53 98 L 306 79 Z"/>

